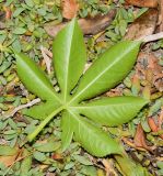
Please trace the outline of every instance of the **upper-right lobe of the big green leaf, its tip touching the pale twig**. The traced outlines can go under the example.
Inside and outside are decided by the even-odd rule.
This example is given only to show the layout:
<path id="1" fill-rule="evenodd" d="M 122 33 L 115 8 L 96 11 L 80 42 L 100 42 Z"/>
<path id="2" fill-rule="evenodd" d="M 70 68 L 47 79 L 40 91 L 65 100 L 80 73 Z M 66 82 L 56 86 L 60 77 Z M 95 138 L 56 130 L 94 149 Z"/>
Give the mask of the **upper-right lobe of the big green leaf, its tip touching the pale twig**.
<path id="1" fill-rule="evenodd" d="M 82 77 L 72 100 L 95 97 L 119 84 L 132 68 L 139 46 L 140 42 L 124 41 L 102 54 Z"/>

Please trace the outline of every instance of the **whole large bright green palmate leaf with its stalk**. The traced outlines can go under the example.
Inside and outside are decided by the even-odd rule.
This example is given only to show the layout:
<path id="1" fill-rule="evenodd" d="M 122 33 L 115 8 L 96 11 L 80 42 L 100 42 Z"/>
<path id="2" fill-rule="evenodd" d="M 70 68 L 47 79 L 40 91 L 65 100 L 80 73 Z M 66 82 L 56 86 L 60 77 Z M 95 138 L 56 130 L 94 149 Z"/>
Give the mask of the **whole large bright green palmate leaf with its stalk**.
<path id="1" fill-rule="evenodd" d="M 83 100 L 93 98 L 120 82 L 132 68 L 139 46 L 140 42 L 120 42 L 107 50 L 82 75 L 86 59 L 84 40 L 77 20 L 72 20 L 56 36 L 53 45 L 59 94 L 55 92 L 46 75 L 31 58 L 16 53 L 19 77 L 30 91 L 46 101 L 24 111 L 25 114 L 43 120 L 28 135 L 28 141 L 60 113 L 63 151 L 73 138 L 95 156 L 123 153 L 121 145 L 101 130 L 100 125 L 112 127 L 128 122 L 147 101 L 137 97 L 100 98 L 86 102 Z"/>

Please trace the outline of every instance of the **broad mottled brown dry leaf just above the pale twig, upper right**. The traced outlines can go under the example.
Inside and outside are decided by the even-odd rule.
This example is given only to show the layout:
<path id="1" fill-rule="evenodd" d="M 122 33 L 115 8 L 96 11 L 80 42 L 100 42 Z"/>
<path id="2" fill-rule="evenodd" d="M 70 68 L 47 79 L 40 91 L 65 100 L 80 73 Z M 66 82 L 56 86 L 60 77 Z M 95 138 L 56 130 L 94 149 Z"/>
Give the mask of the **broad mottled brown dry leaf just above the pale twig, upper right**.
<path id="1" fill-rule="evenodd" d="M 153 34 L 156 26 L 158 15 L 158 10 L 148 10 L 128 28 L 125 38 L 139 40 Z"/>

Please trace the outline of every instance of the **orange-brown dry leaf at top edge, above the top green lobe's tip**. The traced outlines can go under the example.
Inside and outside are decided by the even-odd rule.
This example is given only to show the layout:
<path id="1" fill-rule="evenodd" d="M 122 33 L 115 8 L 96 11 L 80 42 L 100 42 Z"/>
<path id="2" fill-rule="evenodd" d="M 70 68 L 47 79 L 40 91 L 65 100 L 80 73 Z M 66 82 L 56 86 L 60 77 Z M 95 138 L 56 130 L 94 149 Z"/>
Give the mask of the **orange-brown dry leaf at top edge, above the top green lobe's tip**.
<path id="1" fill-rule="evenodd" d="M 73 19 L 79 10 L 79 4 L 75 0 L 62 0 L 62 16 Z"/>

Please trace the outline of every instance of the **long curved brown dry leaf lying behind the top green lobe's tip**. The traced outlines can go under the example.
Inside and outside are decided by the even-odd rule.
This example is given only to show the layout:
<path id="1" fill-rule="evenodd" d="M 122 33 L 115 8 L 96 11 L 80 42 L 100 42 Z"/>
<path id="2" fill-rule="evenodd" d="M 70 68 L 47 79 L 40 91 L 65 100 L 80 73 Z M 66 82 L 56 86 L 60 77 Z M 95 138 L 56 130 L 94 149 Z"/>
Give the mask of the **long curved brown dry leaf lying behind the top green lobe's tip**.
<path id="1" fill-rule="evenodd" d="M 110 24 L 115 15 L 116 15 L 116 11 L 110 10 L 105 15 L 96 15 L 94 18 L 79 19 L 78 23 L 85 35 L 94 35 L 105 30 Z M 50 36 L 56 36 L 57 33 L 61 29 L 63 29 L 66 25 L 67 25 L 67 22 L 57 24 L 57 25 L 56 24 L 54 25 L 53 23 L 48 23 L 44 28 L 45 28 L 45 31 Z"/>

